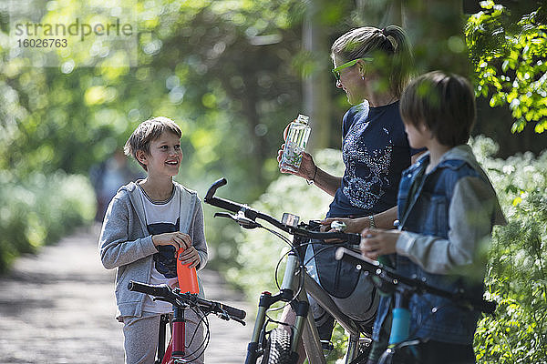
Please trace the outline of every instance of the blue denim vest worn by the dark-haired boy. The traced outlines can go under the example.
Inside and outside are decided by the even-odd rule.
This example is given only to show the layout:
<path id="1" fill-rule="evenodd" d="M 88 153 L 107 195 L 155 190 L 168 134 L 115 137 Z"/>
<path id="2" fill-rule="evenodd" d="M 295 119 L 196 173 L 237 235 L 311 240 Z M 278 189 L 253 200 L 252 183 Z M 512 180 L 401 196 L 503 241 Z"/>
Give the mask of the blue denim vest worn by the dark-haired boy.
<path id="1" fill-rule="evenodd" d="M 480 177 L 480 174 L 466 161 L 451 159 L 442 161 L 426 175 L 426 161 L 428 157 L 422 158 L 403 172 L 397 198 L 398 228 L 447 239 L 449 205 L 456 183 L 461 177 Z M 417 185 L 412 187 L 416 178 Z M 406 257 L 394 254 L 390 258 L 397 272 L 408 278 L 424 279 L 431 286 L 454 292 L 463 288 L 468 295 L 482 297 L 482 285 L 471 286 L 462 276 L 432 274 Z M 390 305 L 390 297 L 383 297 L 380 301 L 373 335 L 376 340 Z M 478 313 L 459 308 L 447 298 L 429 294 L 414 295 L 410 299 L 409 309 L 411 339 L 435 339 L 464 345 L 473 342 Z"/>

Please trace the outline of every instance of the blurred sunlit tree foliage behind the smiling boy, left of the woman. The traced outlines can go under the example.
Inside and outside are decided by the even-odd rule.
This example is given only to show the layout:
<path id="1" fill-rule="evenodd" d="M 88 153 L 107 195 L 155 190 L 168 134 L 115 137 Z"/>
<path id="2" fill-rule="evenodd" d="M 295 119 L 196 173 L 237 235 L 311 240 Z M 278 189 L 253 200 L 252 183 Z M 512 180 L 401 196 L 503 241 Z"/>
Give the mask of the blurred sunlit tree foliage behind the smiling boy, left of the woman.
<path id="1" fill-rule="evenodd" d="M 231 197 L 257 197 L 276 174 L 282 131 L 301 105 L 291 57 L 300 50 L 304 7 L 293 1 L 115 3 L 135 12 L 134 68 L 115 66 L 119 53 L 93 55 L 91 38 L 59 53 L 57 67 L 30 66 L 8 48 L 8 5 L 0 4 L 0 171 L 21 181 L 36 170 L 86 174 L 122 147 L 139 122 L 168 116 L 183 131 L 181 183 L 202 197 L 226 176 L 237 181 L 226 187 Z M 94 14 L 88 5 L 96 3 L 34 4 L 47 9 L 40 21 L 69 23 L 87 21 Z M 226 244 L 230 227 L 206 222 L 212 254 L 230 262 L 236 254 Z"/>

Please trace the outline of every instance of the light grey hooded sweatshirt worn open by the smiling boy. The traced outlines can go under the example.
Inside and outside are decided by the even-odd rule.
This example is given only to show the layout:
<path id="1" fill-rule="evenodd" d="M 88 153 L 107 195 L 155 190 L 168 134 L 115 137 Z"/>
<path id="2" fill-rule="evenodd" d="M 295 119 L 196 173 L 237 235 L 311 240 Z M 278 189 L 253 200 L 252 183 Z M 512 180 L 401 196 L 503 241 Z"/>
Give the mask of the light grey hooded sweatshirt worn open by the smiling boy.
<path id="1" fill-rule="evenodd" d="M 198 251 L 201 263 L 207 263 L 207 243 L 203 230 L 203 211 L 197 193 L 173 182 L 181 190 L 181 232 L 190 236 L 192 245 Z M 118 268 L 116 274 L 116 318 L 142 315 L 145 295 L 128 289 L 131 280 L 149 283 L 154 264 L 152 256 L 158 250 L 152 243 L 144 219 L 144 207 L 134 182 L 120 187 L 108 205 L 98 240 L 100 258 L 107 269 Z M 199 278 L 199 277 L 198 277 Z M 201 290 L 201 283 L 200 283 Z M 202 296 L 203 292 L 200 291 Z"/>

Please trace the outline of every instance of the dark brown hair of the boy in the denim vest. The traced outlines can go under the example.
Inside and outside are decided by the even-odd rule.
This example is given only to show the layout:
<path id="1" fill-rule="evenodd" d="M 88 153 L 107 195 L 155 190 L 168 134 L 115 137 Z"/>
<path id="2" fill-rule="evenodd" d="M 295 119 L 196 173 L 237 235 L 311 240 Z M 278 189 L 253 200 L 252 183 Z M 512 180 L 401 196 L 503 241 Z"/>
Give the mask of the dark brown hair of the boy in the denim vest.
<path id="1" fill-rule="evenodd" d="M 425 124 L 440 144 L 466 144 L 477 116 L 475 95 L 463 76 L 441 71 L 418 76 L 405 89 L 399 104 L 406 124 Z"/>

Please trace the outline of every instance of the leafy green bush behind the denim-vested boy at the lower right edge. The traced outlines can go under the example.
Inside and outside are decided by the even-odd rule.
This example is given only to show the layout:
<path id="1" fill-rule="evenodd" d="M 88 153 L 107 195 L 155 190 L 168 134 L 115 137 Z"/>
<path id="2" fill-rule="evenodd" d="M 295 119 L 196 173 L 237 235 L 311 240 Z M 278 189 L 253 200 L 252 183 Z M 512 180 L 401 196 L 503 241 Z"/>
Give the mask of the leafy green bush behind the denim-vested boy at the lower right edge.
<path id="1" fill-rule="evenodd" d="M 496 148 L 484 138 L 475 143 L 509 220 L 494 232 L 485 281 L 499 307 L 480 321 L 475 350 L 480 363 L 545 363 L 547 153 L 488 158 Z"/>

